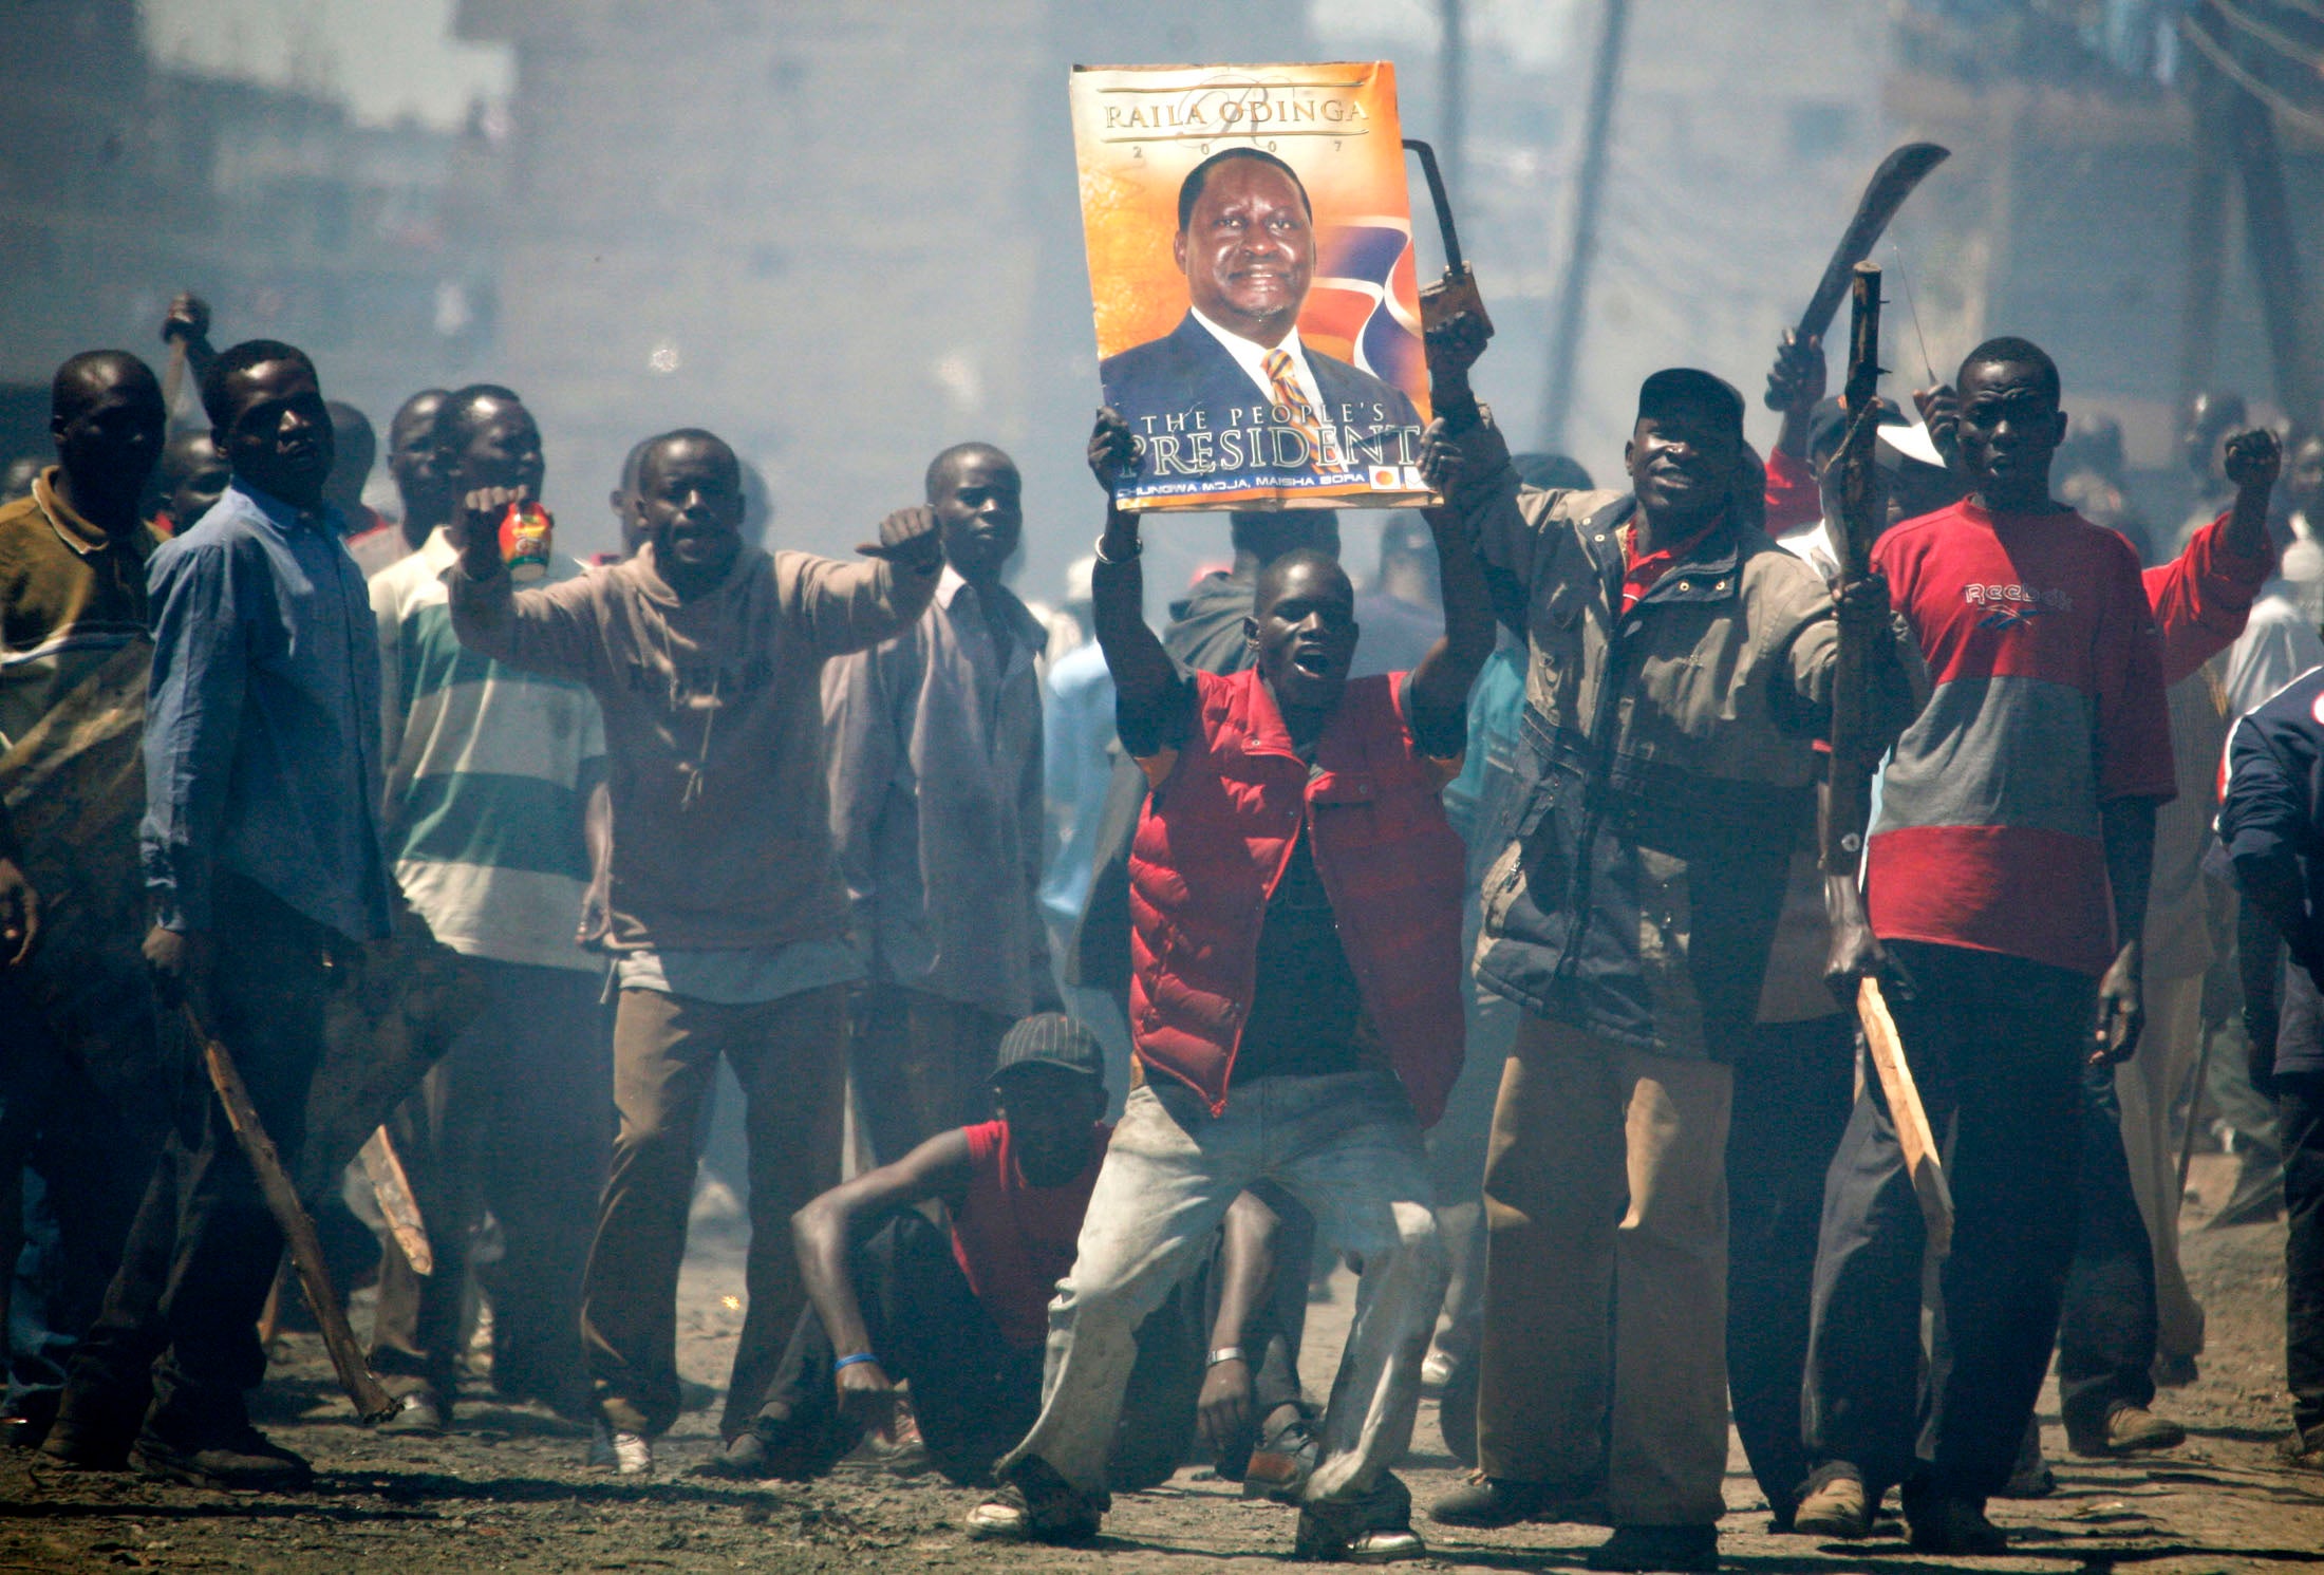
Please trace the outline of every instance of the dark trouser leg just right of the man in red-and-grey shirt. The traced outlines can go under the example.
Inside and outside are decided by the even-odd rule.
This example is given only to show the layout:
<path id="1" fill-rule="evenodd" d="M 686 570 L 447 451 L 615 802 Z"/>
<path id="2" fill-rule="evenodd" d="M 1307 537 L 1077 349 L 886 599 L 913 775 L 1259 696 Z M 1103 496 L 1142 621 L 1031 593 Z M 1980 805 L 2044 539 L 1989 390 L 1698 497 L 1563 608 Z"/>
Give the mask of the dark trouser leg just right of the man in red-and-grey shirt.
<path id="1" fill-rule="evenodd" d="M 2154 1240 L 2131 1192 L 2115 1069 L 2082 1069 L 2082 1206 L 2057 1326 L 2057 1389 L 2068 1436 L 2101 1433 L 2115 1405 L 2154 1403 Z"/>

